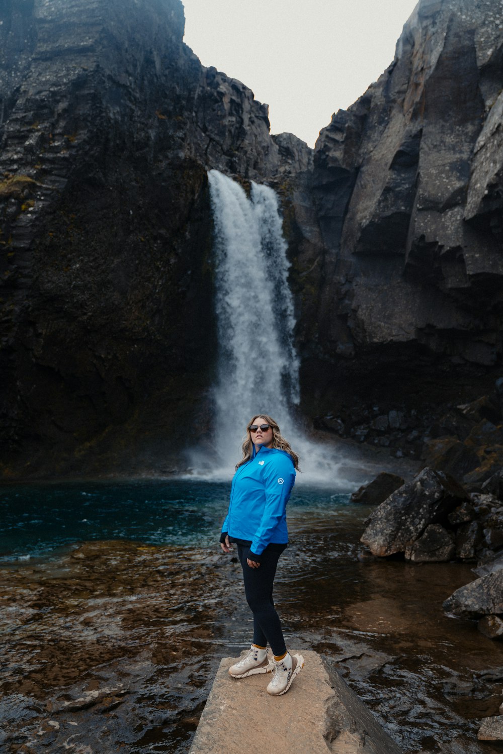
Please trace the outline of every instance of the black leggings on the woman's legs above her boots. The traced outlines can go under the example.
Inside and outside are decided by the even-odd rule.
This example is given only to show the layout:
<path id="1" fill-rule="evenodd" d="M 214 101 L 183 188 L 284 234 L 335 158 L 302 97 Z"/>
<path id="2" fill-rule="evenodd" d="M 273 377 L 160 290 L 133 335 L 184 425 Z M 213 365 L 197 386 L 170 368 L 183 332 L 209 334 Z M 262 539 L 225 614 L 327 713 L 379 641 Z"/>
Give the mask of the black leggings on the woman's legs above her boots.
<path id="1" fill-rule="evenodd" d="M 247 553 L 249 552 L 248 547 L 238 544 L 238 557 L 243 569 L 244 593 L 250 610 L 253 612 L 253 644 L 265 647 L 269 643 L 272 653 L 278 657 L 287 651 L 280 619 L 275 611 L 275 603 L 272 601 L 272 584 L 275 580 L 281 550 L 270 550 L 266 547 L 257 569 L 248 566 Z"/>

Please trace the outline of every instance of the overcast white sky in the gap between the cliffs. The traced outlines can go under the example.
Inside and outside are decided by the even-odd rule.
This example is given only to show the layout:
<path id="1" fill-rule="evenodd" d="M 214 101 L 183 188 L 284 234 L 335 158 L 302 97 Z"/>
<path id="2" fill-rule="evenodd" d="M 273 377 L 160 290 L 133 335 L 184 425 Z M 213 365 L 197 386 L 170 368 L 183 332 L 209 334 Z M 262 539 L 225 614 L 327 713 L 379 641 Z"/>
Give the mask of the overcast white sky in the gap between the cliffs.
<path id="1" fill-rule="evenodd" d="M 271 133 L 314 146 L 394 57 L 417 0 L 182 0 L 185 41 L 268 103 Z"/>

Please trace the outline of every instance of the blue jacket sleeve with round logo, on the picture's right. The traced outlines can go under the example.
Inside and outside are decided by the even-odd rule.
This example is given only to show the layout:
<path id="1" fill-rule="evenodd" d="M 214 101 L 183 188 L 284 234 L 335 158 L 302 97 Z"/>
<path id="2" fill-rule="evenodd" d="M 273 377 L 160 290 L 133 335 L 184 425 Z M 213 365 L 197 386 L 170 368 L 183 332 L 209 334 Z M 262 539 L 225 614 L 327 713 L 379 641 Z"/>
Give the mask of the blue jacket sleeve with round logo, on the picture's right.
<path id="1" fill-rule="evenodd" d="M 250 558 L 260 556 L 272 541 L 273 532 L 285 515 L 295 483 L 295 468 L 289 455 L 278 453 L 264 469 L 265 508 L 250 547 Z"/>

